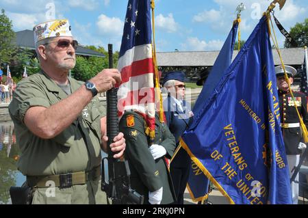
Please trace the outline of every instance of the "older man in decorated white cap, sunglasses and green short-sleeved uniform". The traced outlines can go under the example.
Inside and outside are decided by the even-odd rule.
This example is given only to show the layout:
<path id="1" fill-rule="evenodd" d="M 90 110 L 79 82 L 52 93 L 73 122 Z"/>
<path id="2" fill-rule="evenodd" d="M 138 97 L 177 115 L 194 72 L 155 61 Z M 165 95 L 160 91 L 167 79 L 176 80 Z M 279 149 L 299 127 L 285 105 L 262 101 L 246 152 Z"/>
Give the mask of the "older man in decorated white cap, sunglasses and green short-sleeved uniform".
<path id="1" fill-rule="evenodd" d="M 18 83 L 9 106 L 32 204 L 104 203 L 100 163 L 107 136 L 97 93 L 120 82 L 120 74 L 105 69 L 86 83 L 68 78 L 77 41 L 66 19 L 36 25 L 34 40 L 41 71 Z M 123 133 L 110 147 L 118 152 L 114 158 L 123 155 Z"/>

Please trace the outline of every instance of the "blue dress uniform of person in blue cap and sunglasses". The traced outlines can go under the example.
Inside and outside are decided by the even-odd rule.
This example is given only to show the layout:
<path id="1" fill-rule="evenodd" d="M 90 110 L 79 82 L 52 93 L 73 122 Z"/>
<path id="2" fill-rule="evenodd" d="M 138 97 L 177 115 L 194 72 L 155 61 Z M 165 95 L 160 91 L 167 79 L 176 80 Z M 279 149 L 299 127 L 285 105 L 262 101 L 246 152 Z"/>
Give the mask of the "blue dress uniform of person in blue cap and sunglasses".
<path id="1" fill-rule="evenodd" d="M 188 127 L 190 121 L 190 115 L 187 113 L 188 110 L 185 110 L 185 105 L 186 102 L 183 100 L 183 108 L 181 109 L 175 103 L 175 98 L 171 96 L 168 96 L 164 100 L 166 122 L 170 132 L 175 136 L 177 146 L 179 145 L 181 135 L 185 131 L 185 128 Z M 183 148 L 180 148 L 170 163 L 170 175 L 177 195 L 177 204 L 183 204 L 183 194 L 190 173 L 190 162 L 188 153 Z"/>

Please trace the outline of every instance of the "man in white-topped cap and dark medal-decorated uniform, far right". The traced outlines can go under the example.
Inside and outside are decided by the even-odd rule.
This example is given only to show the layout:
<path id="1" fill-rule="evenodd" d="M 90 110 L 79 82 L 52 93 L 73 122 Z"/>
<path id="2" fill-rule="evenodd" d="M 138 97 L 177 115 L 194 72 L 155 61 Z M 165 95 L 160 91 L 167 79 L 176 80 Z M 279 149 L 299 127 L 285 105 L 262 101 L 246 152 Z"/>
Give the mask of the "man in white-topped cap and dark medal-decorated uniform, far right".
<path id="1" fill-rule="evenodd" d="M 293 83 L 293 77 L 296 74 L 296 69 L 292 66 L 285 66 L 285 71 L 289 77 L 290 85 Z M 289 86 L 285 80 L 282 66 L 275 67 L 277 77 L 277 87 L 279 89 L 279 107 L 281 116 L 281 131 L 283 133 L 283 141 L 285 144 L 285 152 L 287 154 L 287 163 L 289 165 L 290 177 L 292 177 L 292 169 L 298 165 L 300 153 L 303 146 L 303 137 L 300 132 L 300 120 L 294 100 L 303 118 L 303 122 L 308 126 L 307 99 L 305 94 L 301 92 L 293 92 L 294 100 L 290 94 Z M 295 180 L 298 180 L 296 176 Z M 293 204 L 298 203 L 298 183 L 292 182 L 292 201 Z"/>

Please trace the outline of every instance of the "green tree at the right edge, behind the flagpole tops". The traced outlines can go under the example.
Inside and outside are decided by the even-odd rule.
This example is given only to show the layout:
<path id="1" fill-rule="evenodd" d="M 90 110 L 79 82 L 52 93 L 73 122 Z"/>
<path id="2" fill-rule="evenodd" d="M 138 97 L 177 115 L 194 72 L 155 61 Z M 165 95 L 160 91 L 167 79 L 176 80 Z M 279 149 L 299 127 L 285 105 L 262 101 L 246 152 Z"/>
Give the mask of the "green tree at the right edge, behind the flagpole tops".
<path id="1" fill-rule="evenodd" d="M 290 29 L 290 35 L 297 43 L 298 47 L 308 45 L 308 18 L 303 23 L 296 23 L 294 27 Z M 292 48 L 292 44 L 285 39 L 285 48 Z"/>

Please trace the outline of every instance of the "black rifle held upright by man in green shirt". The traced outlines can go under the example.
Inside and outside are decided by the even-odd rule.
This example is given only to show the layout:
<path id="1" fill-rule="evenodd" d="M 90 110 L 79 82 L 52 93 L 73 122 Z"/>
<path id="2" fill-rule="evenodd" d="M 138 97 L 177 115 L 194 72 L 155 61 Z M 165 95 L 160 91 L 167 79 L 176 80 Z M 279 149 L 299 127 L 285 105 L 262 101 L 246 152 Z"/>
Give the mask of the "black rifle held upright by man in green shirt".
<path id="1" fill-rule="evenodd" d="M 108 44 L 109 68 L 113 68 L 112 44 Z M 131 189 L 129 163 L 126 160 L 114 159 L 110 149 L 114 137 L 118 135 L 118 89 L 113 87 L 107 91 L 107 150 L 108 156 L 102 160 L 101 189 L 112 204 L 143 204 L 144 196 Z M 105 172 L 105 163 L 108 171 Z M 107 180 L 105 180 L 105 173 Z M 109 204 L 109 201 L 108 201 Z"/>

